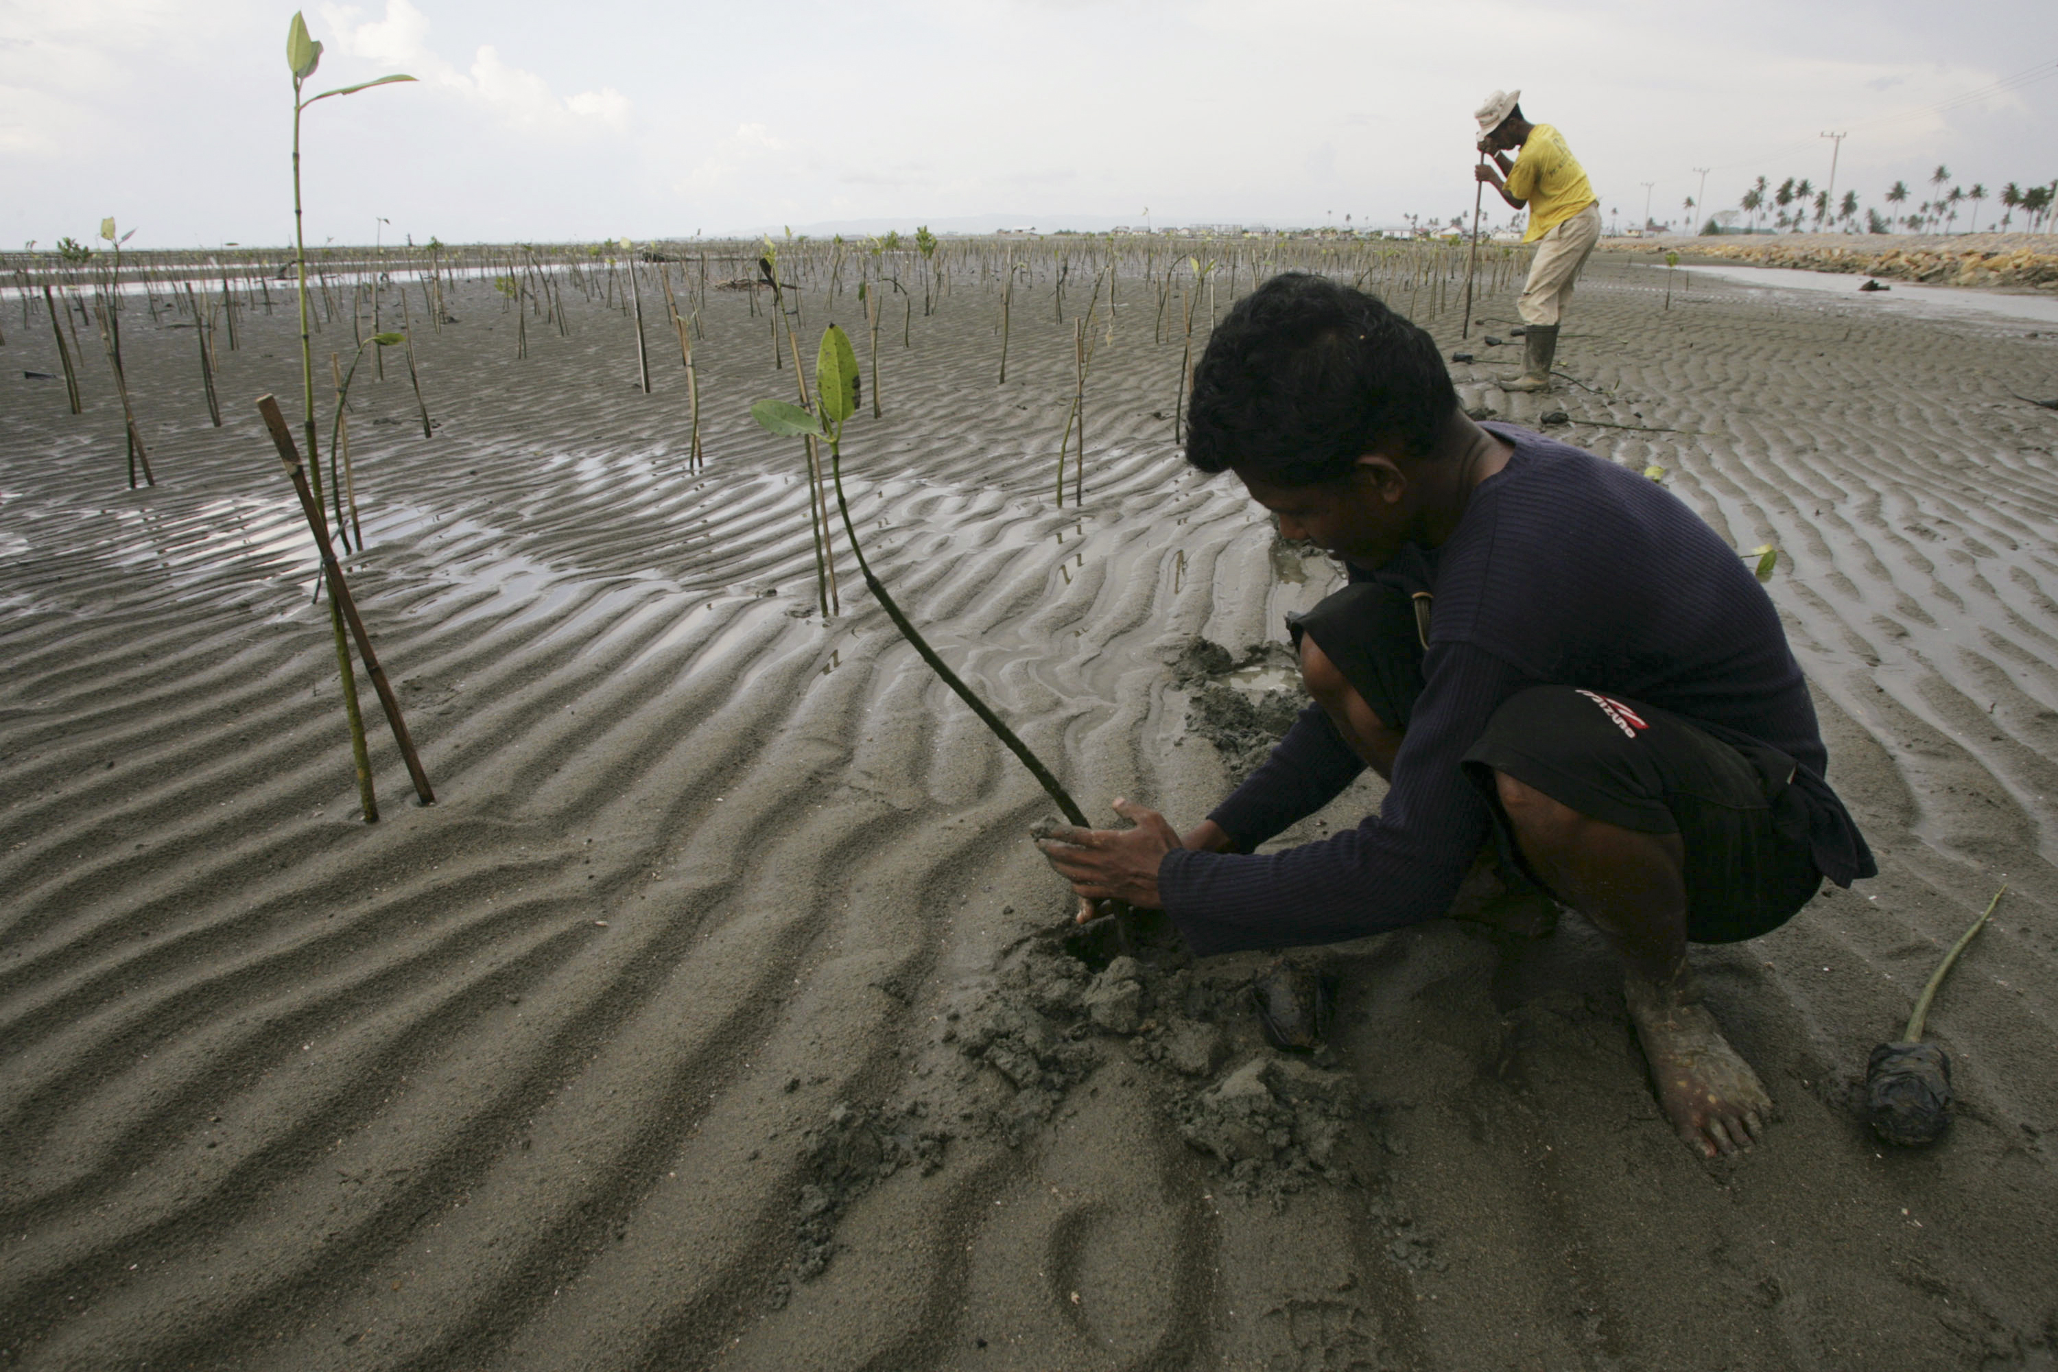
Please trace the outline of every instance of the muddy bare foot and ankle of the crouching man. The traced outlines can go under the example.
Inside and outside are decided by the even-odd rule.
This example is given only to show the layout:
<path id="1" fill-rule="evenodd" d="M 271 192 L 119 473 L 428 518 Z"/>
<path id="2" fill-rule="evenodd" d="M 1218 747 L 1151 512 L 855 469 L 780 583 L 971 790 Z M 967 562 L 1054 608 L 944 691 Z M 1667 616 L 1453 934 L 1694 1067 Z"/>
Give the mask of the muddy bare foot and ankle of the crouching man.
<path id="1" fill-rule="evenodd" d="M 1749 1148 L 1772 1119 L 1772 1096 L 1729 1047 L 1686 973 L 1667 983 L 1624 977 L 1630 1018 L 1673 1131 L 1704 1158 Z"/>

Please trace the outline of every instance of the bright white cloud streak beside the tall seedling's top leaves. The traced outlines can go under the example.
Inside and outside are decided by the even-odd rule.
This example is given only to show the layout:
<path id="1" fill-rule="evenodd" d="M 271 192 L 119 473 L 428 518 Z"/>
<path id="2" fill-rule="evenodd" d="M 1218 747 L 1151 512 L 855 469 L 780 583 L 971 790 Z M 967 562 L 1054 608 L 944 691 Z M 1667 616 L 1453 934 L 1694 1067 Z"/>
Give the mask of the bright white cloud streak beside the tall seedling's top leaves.
<path id="1" fill-rule="evenodd" d="M 490 43 L 477 49 L 467 70 L 459 70 L 428 45 L 428 16 L 412 0 L 387 0 L 385 19 L 358 23 L 360 12 L 356 6 L 321 6 L 335 51 L 453 91 L 508 130 L 580 136 L 626 134 L 630 128 L 630 101 L 613 86 L 560 97 L 547 78 L 508 66 Z"/>

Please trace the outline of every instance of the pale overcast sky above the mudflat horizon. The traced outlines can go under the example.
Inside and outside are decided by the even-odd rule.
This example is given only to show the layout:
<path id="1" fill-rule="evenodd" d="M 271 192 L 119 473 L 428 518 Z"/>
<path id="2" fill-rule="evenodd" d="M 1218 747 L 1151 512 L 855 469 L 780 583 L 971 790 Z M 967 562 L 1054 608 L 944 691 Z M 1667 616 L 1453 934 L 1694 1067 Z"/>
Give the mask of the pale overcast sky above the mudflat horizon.
<path id="1" fill-rule="evenodd" d="M 0 243 L 105 214 L 136 247 L 290 241 L 290 16 L 0 0 Z M 420 78 L 307 113 L 311 245 L 379 218 L 449 243 L 1449 220 L 1496 86 L 1626 220 L 1644 181 L 1677 218 L 1696 167 L 1712 208 L 1760 173 L 1819 185 L 1825 130 L 1869 204 L 1937 163 L 1965 189 L 2058 177 L 2052 0 L 317 0 L 307 23 L 315 91 Z"/>

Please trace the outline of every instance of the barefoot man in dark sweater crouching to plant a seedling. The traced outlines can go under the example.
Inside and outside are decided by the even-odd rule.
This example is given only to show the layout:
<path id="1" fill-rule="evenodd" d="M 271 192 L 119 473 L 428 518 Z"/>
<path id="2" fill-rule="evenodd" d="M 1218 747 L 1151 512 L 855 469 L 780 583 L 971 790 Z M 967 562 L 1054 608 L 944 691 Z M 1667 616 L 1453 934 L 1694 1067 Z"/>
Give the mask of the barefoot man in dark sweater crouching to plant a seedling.
<path id="1" fill-rule="evenodd" d="M 1315 703 L 1185 837 L 1117 800 L 1134 827 L 1062 831 L 1052 866 L 1210 954 L 1432 919 L 1490 843 L 1622 954 L 1679 1138 L 1758 1142 L 1772 1098 L 1686 948 L 1766 934 L 1875 866 L 1735 549 L 1634 471 L 1474 424 L 1428 333 L 1317 276 L 1266 282 L 1214 331 L 1187 461 L 1348 566 L 1292 625 Z M 1377 815 L 1253 852 L 1364 767 L 1389 782 Z"/>

